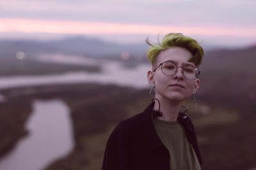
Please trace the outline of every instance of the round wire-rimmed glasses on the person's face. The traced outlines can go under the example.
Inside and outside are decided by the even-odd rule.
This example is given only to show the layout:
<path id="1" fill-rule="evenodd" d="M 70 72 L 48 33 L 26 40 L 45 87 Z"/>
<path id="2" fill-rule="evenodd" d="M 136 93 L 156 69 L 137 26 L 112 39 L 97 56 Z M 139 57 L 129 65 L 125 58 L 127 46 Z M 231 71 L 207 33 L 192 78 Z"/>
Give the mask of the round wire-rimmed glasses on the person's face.
<path id="1" fill-rule="evenodd" d="M 182 74 L 189 81 L 195 80 L 198 77 L 198 75 L 200 74 L 200 71 L 195 66 L 190 66 L 190 65 L 184 66 L 184 67 L 177 66 L 177 65 L 175 65 L 175 63 L 172 63 L 170 61 L 165 61 L 163 63 L 160 63 L 159 66 L 161 66 L 161 70 L 164 73 L 164 75 L 168 75 L 168 76 L 174 75 L 175 73 L 177 73 L 178 68 L 182 68 Z M 159 68 L 159 66 L 157 66 L 157 68 Z M 155 72 L 156 69 L 153 70 L 153 72 Z"/>

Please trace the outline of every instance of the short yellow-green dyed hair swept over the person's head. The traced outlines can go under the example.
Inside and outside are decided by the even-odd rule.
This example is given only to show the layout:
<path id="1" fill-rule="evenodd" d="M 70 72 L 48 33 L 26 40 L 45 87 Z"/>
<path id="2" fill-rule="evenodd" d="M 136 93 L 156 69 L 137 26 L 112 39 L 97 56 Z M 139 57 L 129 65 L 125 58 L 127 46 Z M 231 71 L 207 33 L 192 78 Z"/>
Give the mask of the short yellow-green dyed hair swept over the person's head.
<path id="1" fill-rule="evenodd" d="M 150 45 L 147 50 L 147 58 L 152 65 L 159 52 L 172 47 L 184 47 L 193 55 L 188 61 L 195 63 L 196 66 L 199 66 L 202 63 L 204 49 L 198 44 L 198 42 L 196 42 L 196 40 L 188 36 L 184 36 L 182 33 L 169 33 L 163 37 L 161 43 L 158 40 L 156 45 L 152 45 L 148 42 L 148 38 L 146 39 L 146 43 Z"/>

